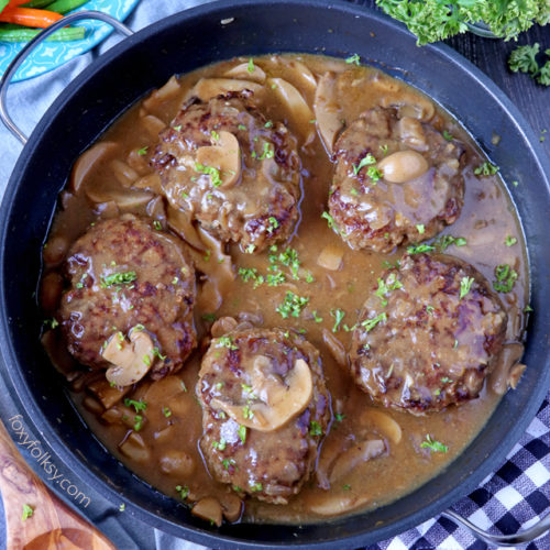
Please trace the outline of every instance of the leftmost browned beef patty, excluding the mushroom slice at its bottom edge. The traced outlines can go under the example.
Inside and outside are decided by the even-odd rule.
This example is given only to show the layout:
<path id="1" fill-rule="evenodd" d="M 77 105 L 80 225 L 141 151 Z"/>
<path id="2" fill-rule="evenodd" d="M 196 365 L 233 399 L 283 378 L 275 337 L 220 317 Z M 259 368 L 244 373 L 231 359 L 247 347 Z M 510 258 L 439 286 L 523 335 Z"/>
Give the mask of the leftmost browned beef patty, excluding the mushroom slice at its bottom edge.
<path id="1" fill-rule="evenodd" d="M 154 378 L 178 370 L 195 348 L 194 268 L 180 245 L 147 221 L 125 215 L 96 223 L 73 244 L 65 274 L 58 318 L 80 363 L 107 369 L 105 342 L 136 326 L 158 348 Z"/>

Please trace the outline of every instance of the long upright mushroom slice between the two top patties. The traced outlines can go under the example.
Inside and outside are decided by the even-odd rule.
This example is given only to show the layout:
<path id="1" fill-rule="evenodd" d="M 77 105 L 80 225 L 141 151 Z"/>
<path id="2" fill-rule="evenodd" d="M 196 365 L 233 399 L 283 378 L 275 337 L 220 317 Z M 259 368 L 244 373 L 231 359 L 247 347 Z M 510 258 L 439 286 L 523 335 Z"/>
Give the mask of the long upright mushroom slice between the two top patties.
<path id="1" fill-rule="evenodd" d="M 315 94 L 314 110 L 319 133 L 324 146 L 331 153 L 336 138 L 343 128 L 342 112 L 337 94 L 337 75 L 334 73 L 324 73 L 319 80 Z"/>

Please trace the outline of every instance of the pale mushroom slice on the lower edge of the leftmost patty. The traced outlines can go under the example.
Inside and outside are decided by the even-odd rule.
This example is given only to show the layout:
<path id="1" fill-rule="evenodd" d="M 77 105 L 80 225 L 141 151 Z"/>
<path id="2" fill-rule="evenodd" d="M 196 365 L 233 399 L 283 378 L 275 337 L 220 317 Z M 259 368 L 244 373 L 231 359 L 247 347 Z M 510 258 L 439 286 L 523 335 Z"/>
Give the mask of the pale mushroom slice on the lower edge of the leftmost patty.
<path id="1" fill-rule="evenodd" d="M 109 340 L 101 353 L 112 365 L 107 370 L 106 377 L 117 386 L 124 387 L 141 381 L 153 365 L 153 340 L 134 327 L 130 330 L 130 342 L 121 332 Z"/>

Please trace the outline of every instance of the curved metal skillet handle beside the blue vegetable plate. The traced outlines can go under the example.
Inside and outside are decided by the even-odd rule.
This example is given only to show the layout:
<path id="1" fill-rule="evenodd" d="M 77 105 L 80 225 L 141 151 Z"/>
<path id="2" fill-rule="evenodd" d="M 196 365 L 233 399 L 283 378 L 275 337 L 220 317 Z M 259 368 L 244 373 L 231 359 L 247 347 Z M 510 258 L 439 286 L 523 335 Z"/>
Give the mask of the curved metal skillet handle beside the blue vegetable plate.
<path id="1" fill-rule="evenodd" d="M 44 40 L 46 40 L 52 33 L 55 31 L 69 25 L 76 21 L 80 21 L 82 19 L 97 19 L 99 21 L 103 21 L 105 23 L 109 23 L 117 31 L 122 33 L 124 36 L 131 36 L 133 31 L 129 29 L 127 25 L 122 24 L 120 21 L 111 18 L 107 13 L 102 13 L 100 11 L 79 11 L 77 13 L 72 13 L 70 15 L 66 15 L 54 24 L 50 25 L 46 30 L 41 32 L 37 36 L 35 36 L 29 44 L 26 44 L 21 52 L 13 58 L 10 63 L 8 69 L 6 70 L 3 77 L 0 79 L 0 120 L 6 124 L 8 130 L 24 145 L 28 141 L 26 135 L 16 127 L 13 122 L 12 118 L 8 113 L 8 108 L 6 107 L 6 97 L 8 94 L 8 86 L 23 63 L 29 53 L 34 48 L 35 45 L 40 44 Z"/>

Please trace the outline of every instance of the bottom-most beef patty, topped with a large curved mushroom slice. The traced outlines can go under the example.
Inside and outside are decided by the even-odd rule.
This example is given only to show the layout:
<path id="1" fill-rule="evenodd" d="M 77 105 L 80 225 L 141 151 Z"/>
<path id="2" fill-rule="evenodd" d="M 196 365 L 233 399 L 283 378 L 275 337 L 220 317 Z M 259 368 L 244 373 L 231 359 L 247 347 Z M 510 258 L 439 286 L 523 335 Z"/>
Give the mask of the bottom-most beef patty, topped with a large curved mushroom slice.
<path id="1" fill-rule="evenodd" d="M 330 414 L 319 352 L 310 343 L 276 329 L 215 339 L 202 360 L 197 395 L 200 448 L 217 480 L 276 504 L 300 491 Z"/>

